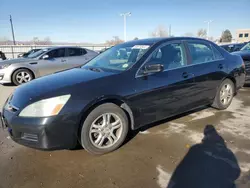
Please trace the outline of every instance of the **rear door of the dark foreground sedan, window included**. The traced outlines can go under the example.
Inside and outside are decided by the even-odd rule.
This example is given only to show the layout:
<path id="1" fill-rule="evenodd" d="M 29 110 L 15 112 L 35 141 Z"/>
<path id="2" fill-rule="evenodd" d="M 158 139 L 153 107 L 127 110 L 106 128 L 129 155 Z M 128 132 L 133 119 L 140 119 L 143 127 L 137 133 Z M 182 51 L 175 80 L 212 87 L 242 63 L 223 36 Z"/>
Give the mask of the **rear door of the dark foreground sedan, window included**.
<path id="1" fill-rule="evenodd" d="M 217 87 L 226 76 L 227 65 L 216 47 L 206 41 L 186 41 L 195 76 L 195 102 L 199 105 L 211 103 Z"/>

